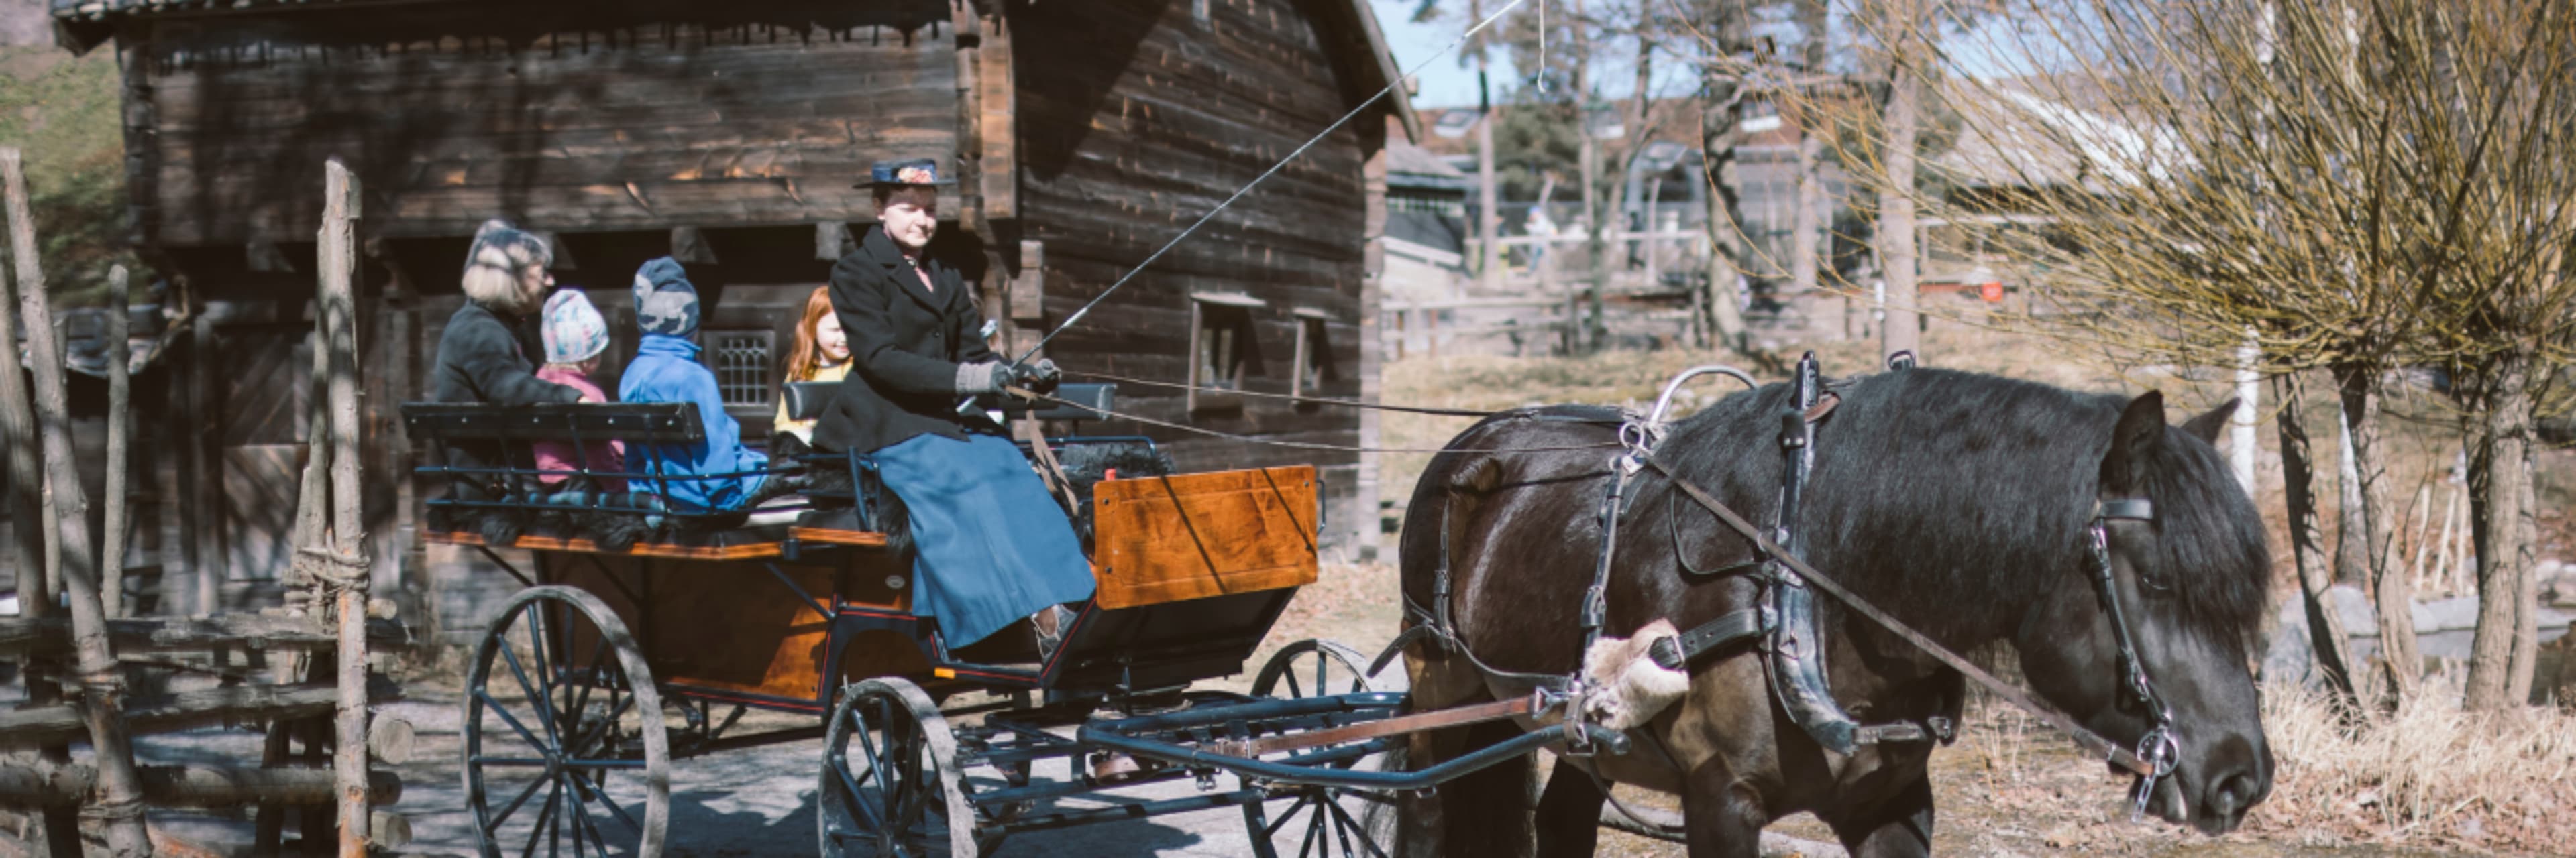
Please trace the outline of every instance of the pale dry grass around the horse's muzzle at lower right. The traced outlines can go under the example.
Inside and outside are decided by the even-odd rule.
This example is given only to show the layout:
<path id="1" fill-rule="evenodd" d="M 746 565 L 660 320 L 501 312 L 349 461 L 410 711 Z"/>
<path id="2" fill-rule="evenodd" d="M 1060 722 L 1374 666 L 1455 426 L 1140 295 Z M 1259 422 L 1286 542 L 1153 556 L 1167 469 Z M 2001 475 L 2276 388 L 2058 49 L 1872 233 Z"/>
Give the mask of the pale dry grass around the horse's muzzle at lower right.
<path id="1" fill-rule="evenodd" d="M 2563 855 L 2576 843 L 2576 714 L 2460 709 L 2460 678 L 2396 714 L 2347 721 L 2321 693 L 2267 688 L 2272 796 L 2205 837 L 2125 819 L 2128 778 L 2045 724 L 1978 698 L 1958 747 L 1932 755 L 1945 853 L 2494 853 Z"/>

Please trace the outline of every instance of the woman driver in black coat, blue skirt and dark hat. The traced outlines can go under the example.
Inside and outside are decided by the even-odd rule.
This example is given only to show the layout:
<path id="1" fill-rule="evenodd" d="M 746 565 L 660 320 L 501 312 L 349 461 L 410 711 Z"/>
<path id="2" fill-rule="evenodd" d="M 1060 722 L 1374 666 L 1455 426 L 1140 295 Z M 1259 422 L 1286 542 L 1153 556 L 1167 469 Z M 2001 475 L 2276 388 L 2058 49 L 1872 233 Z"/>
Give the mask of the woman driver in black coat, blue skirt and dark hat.
<path id="1" fill-rule="evenodd" d="M 961 397 L 1048 392 L 1056 366 L 1005 361 L 979 335 L 974 294 L 938 258 L 933 160 L 878 162 L 860 188 L 878 224 L 832 265 L 832 312 L 850 376 L 814 428 L 814 448 L 868 453 L 912 513 L 914 598 L 951 647 L 1030 616 L 1054 649 L 1054 605 L 1087 600 L 1092 569 L 1064 510 L 1020 448 L 958 415 Z"/>

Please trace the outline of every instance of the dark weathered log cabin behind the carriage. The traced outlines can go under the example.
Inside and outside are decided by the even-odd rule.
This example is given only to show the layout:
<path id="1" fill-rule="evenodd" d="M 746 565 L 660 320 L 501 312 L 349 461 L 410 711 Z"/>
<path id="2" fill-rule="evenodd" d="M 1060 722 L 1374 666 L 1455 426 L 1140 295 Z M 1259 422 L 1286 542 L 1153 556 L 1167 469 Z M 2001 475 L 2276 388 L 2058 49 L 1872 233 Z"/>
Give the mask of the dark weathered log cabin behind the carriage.
<path id="1" fill-rule="evenodd" d="M 549 234 L 556 278 L 611 317 L 608 389 L 634 353 L 634 268 L 688 263 L 726 405 L 765 438 L 796 309 L 873 219 L 853 188 L 871 162 L 938 157 L 961 175 L 938 253 L 979 283 L 997 345 L 1025 348 L 1352 111 L 1046 356 L 1077 374 L 1376 397 L 1386 137 L 1419 129 L 1363 0 L 54 0 L 54 23 L 72 49 L 113 44 L 134 242 L 198 307 L 165 376 L 191 500 L 175 505 L 178 554 L 201 611 L 255 603 L 291 557 L 330 157 L 363 183 L 371 474 L 415 464 L 392 405 L 425 399 L 466 240 L 489 216 Z M 1373 412 L 1347 407 L 1118 397 L 1218 433 L 1376 438 Z M 1182 469 L 1316 464 L 1327 549 L 1376 549 L 1360 453 L 1079 430 L 1154 435 Z M 420 546 L 422 482 L 371 484 L 379 562 L 399 564 L 376 575 L 384 595 L 453 636 L 518 587 Z"/>

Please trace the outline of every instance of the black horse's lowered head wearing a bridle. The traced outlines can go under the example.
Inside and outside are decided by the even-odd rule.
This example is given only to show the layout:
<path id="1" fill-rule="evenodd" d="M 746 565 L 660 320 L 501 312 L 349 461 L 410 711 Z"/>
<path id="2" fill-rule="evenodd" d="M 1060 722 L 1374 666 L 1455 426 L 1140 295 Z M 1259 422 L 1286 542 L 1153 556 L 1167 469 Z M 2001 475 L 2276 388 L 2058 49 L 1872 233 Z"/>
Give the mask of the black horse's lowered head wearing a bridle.
<path id="1" fill-rule="evenodd" d="M 2120 412 L 2102 456 L 2102 508 L 2089 518 L 2107 551 L 2092 549 L 2089 526 L 2071 546 L 2076 562 L 2017 634 L 2032 688 L 2115 742 L 2138 745 L 2161 701 L 2177 768 L 2151 809 L 2213 835 L 2272 791 L 2262 696 L 2246 667 L 2269 557 L 2254 502 L 2213 446 L 2233 410 L 2228 402 L 2169 428 L 2164 397 L 2151 392 Z M 2102 595 L 2097 557 L 2107 559 L 2112 598 Z M 2130 688 L 2120 629 L 2146 672 L 2146 696 Z"/>

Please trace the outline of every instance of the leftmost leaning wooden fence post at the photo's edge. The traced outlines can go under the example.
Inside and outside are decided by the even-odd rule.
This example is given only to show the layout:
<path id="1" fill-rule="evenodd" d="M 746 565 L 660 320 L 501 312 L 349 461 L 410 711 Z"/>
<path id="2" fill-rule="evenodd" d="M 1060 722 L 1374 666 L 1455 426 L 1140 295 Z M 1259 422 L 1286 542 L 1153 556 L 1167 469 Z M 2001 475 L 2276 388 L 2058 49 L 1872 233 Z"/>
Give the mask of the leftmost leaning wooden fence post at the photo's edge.
<path id="1" fill-rule="evenodd" d="M 80 490 L 80 464 L 72 453 L 72 417 L 62 386 L 62 348 L 54 340 L 54 307 L 44 294 L 44 268 L 36 263 L 36 219 L 26 204 L 26 165 L 15 147 L 0 149 L 0 180 L 8 193 L 10 250 L 18 263 L 18 314 L 26 317 L 26 350 L 36 371 L 36 425 L 44 435 L 44 466 L 54 487 L 54 533 L 62 541 L 62 585 L 72 595 L 75 672 L 82 714 L 90 721 L 90 747 L 98 750 L 98 801 L 90 812 L 106 819 L 108 855 L 152 855 L 144 832 L 144 791 L 134 773 L 134 745 L 118 696 L 124 672 L 108 649 L 108 616 L 98 603 L 98 546 L 90 544 L 88 500 Z M 15 371 L 15 368 L 10 368 Z M 62 832 L 49 832 L 59 837 Z"/>

